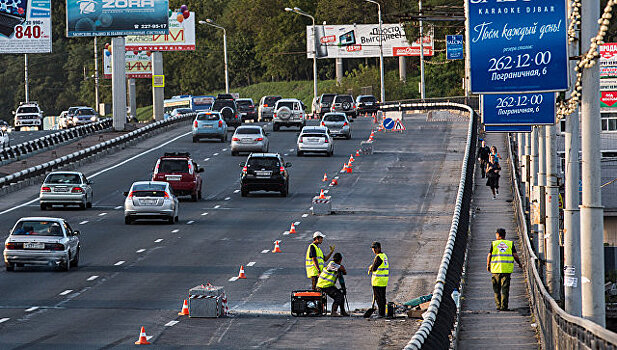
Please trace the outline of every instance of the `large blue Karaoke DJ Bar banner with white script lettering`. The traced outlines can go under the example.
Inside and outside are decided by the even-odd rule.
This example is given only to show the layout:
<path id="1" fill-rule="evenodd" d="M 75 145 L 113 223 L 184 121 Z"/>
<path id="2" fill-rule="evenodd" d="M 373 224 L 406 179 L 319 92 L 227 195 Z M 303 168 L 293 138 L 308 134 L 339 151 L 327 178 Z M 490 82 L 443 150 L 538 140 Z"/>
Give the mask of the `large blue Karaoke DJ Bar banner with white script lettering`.
<path id="1" fill-rule="evenodd" d="M 565 0 L 466 1 L 473 93 L 567 90 Z"/>

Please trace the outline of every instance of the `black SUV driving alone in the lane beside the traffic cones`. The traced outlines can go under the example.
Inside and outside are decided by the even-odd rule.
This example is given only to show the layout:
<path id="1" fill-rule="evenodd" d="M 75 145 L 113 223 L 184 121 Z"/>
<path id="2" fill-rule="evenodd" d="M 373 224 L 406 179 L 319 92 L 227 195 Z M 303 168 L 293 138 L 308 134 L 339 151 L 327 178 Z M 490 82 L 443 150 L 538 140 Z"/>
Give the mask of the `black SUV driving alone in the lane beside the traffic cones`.
<path id="1" fill-rule="evenodd" d="M 252 153 L 240 166 L 242 197 L 248 196 L 250 191 L 278 191 L 283 197 L 289 193 L 287 168 L 291 163 L 285 163 L 280 154 Z"/>

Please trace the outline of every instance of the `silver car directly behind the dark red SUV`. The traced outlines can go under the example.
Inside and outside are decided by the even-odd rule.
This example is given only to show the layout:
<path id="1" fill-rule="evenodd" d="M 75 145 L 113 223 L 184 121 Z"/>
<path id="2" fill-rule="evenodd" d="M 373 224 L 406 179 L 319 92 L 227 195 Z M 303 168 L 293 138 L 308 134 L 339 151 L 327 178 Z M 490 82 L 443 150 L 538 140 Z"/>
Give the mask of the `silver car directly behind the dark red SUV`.
<path id="1" fill-rule="evenodd" d="M 163 219 L 178 222 L 178 198 L 171 186 L 163 181 L 138 181 L 124 192 L 124 223 L 138 219 Z"/>

